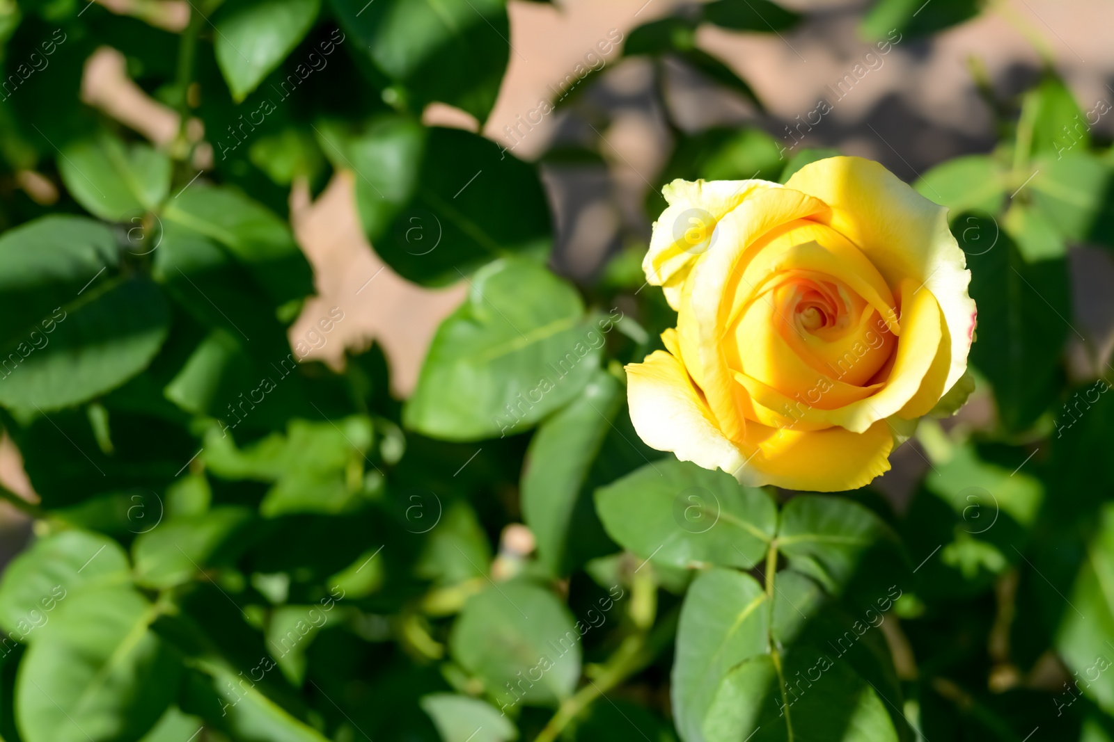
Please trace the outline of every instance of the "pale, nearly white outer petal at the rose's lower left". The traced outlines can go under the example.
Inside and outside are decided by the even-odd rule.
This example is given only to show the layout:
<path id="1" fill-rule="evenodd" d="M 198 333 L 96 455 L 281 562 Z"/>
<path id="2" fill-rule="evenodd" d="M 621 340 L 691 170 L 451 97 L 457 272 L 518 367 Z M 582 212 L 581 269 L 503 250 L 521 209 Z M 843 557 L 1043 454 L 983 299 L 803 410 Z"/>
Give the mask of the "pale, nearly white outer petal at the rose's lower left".
<path id="1" fill-rule="evenodd" d="M 680 360 L 655 350 L 626 372 L 631 422 L 646 445 L 707 469 L 739 471 L 742 453 L 715 426 Z"/>

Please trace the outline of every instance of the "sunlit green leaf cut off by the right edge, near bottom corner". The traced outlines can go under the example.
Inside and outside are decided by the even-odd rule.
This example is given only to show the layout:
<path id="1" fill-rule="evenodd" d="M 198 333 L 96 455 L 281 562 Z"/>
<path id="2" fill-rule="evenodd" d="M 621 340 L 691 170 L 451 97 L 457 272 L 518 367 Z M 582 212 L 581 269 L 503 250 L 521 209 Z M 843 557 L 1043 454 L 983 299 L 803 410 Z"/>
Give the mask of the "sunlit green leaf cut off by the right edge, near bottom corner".
<path id="1" fill-rule="evenodd" d="M 1055 634 L 1056 651 L 1078 679 L 1073 683 L 1093 699 L 1107 714 L 1114 714 L 1114 506 L 1098 513 L 1098 530 L 1086 548 L 1086 556 L 1067 596 Z M 1074 695 L 1074 692 L 1073 692 Z M 1056 700 L 1061 706 L 1071 696 Z"/>

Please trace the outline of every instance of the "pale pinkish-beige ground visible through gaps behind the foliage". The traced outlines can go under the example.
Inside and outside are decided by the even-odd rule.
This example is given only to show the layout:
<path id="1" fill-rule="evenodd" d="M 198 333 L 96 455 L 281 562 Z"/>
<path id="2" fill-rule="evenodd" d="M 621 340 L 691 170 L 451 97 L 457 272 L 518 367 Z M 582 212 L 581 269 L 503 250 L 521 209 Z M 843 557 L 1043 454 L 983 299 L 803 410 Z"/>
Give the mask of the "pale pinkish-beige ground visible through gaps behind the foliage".
<path id="1" fill-rule="evenodd" d="M 125 0 L 113 2 L 114 8 L 126 4 Z M 554 89 L 561 87 L 566 76 L 608 32 L 614 29 L 625 36 L 642 22 L 668 14 L 677 4 L 676 0 L 559 0 L 559 8 L 554 8 L 511 0 L 515 49 L 483 132 L 512 145 L 505 127 L 515 125 L 518 116 L 535 109 L 541 99 L 551 99 Z M 741 99 L 673 69 L 667 85 L 670 108 L 684 129 L 751 122 L 781 137 L 785 125 L 827 96 L 824 86 L 836 83 L 872 50 L 856 31 L 862 2 L 785 0 L 784 4 L 809 12 L 805 22 L 790 32 L 765 36 L 705 27 L 697 34 L 701 47 L 751 82 L 768 113 L 759 115 Z M 948 157 L 988 150 L 994 141 L 990 118 L 976 96 L 967 59 L 976 56 L 985 63 L 1000 95 L 1016 93 L 1034 79 L 1040 66 L 1039 55 L 1023 31 L 1045 40 L 1056 68 L 1085 109 L 1100 98 L 1114 101 L 1114 90 L 1107 87 L 1114 80 L 1114 44 L 1106 32 L 1114 27 L 1114 3 L 1008 0 L 999 4 L 1001 10 L 929 40 L 902 40 L 883 57 L 881 67 L 836 103 L 801 146 L 834 146 L 870 157 L 907 180 Z M 167 13 L 164 24 L 173 27 L 180 16 Z M 589 102 L 605 113 L 598 120 L 609 125 L 594 131 L 568 111 L 557 111 L 545 117 L 515 149 L 516 155 L 532 159 L 554 141 L 603 139 L 607 171 L 566 167 L 544 172 L 558 233 L 554 265 L 579 279 L 598 270 L 606 255 L 620 244 L 620 235 L 648 236 L 649 221 L 656 215 L 644 215 L 641 204 L 670 151 L 667 129 L 651 95 L 648 66 L 637 59 L 620 60 L 617 51 L 605 59 L 603 85 L 592 92 Z M 118 55 L 105 50 L 90 60 L 86 72 L 82 92 L 90 105 L 156 142 L 173 136 L 175 113 L 121 79 Z M 476 127 L 467 115 L 444 107 L 428 110 L 426 119 Z M 1114 117 L 1101 120 L 1096 129 L 1110 136 Z M 295 189 L 291 196 L 295 234 L 314 265 L 319 293 L 306 303 L 291 336 L 296 339 L 322 313 L 340 307 L 345 319 L 320 356 L 336 363 L 343 347 L 360 348 L 378 340 L 392 367 L 393 389 L 404 396 L 413 387 L 437 324 L 459 304 L 463 288 L 430 291 L 387 268 L 359 228 L 352 182 L 351 174 L 338 174 L 312 204 L 304 190 Z M 1114 299 L 1104 288 L 1114 285 L 1108 254 L 1076 250 L 1072 268 L 1081 328 L 1108 353 L 1114 326 Z M 1072 357 L 1083 358 L 1078 348 L 1073 348 Z M 968 414 L 985 415 L 986 410 L 975 408 Z M 900 499 L 926 465 L 911 445 L 899 449 L 892 463 L 895 472 L 880 482 Z M 10 444 L 0 446 L 0 482 L 33 497 Z M 0 534 L 0 551 L 6 544 L 14 546 Z M 0 563 L 3 556 L 0 553 Z"/>

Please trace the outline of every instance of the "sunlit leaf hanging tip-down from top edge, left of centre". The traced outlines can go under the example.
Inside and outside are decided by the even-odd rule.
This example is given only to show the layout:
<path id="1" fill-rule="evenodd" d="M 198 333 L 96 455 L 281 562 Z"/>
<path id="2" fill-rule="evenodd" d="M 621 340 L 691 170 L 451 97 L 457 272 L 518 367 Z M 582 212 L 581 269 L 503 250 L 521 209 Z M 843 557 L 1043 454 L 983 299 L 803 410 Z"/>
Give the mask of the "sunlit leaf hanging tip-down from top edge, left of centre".
<path id="1" fill-rule="evenodd" d="M 321 0 L 248 0 L 222 8 L 213 50 L 237 103 L 297 46 L 320 9 Z"/>

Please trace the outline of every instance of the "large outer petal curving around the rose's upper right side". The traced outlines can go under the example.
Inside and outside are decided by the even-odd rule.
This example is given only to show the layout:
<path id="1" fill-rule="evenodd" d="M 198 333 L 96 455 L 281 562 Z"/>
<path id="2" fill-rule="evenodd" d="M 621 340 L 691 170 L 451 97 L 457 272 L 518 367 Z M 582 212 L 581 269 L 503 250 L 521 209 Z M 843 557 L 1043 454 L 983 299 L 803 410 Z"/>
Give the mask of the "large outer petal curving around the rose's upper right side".
<path id="1" fill-rule="evenodd" d="M 890 286 L 911 278 L 939 303 L 951 337 L 945 389 L 967 368 L 975 328 L 975 301 L 967 294 L 967 259 L 948 230 L 947 212 L 917 194 L 878 162 L 832 157 L 804 166 L 786 188 L 815 196 L 831 207 L 818 220 L 854 243 Z"/>

